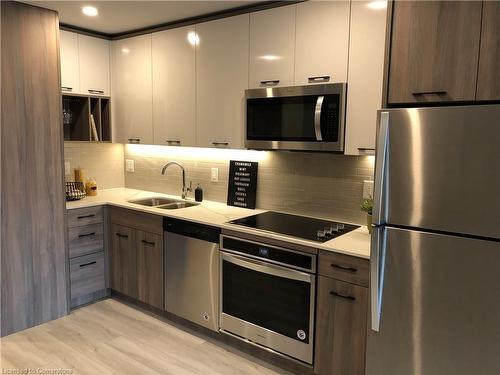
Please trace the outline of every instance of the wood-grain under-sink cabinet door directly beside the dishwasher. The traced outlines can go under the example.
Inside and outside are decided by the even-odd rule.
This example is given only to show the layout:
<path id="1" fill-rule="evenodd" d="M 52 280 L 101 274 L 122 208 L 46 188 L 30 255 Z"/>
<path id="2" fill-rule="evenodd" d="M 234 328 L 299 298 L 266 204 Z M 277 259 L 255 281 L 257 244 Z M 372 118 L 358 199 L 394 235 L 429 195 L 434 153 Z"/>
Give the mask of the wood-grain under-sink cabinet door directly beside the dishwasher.
<path id="1" fill-rule="evenodd" d="M 163 238 L 136 231 L 138 300 L 163 309 Z"/>

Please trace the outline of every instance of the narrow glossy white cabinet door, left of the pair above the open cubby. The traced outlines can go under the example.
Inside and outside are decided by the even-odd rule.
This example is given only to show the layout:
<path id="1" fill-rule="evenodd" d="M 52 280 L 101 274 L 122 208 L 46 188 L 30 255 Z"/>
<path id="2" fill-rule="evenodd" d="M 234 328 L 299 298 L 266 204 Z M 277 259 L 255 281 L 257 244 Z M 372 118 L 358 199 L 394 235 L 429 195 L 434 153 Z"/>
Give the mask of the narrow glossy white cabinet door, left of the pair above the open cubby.
<path id="1" fill-rule="evenodd" d="M 78 34 L 61 30 L 61 89 L 63 92 L 78 93 L 80 72 L 78 64 Z"/>

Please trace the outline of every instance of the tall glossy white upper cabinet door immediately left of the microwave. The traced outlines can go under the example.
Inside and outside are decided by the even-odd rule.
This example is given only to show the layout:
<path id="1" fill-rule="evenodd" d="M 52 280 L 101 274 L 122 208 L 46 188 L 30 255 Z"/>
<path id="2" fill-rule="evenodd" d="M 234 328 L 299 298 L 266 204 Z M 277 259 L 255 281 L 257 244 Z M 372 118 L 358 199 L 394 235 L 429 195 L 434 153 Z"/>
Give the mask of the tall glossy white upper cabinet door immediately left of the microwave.
<path id="1" fill-rule="evenodd" d="M 244 145 L 249 15 L 196 25 L 196 145 Z"/>

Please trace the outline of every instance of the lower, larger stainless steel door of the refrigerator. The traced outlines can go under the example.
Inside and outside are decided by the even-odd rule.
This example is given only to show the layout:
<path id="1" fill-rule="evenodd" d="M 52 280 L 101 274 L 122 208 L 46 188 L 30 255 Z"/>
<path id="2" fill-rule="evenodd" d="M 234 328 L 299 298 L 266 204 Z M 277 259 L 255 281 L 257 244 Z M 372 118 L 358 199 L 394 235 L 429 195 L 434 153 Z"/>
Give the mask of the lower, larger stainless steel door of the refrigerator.
<path id="1" fill-rule="evenodd" d="M 385 231 L 366 374 L 500 374 L 500 242 Z"/>

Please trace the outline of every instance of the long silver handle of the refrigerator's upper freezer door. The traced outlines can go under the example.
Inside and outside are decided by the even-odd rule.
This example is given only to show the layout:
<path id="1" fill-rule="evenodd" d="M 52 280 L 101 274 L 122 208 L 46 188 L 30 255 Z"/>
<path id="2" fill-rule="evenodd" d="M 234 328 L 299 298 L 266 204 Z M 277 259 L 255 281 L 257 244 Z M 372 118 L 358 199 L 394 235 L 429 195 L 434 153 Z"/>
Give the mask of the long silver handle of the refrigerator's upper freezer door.
<path id="1" fill-rule="evenodd" d="M 385 223 L 385 189 L 387 162 L 389 161 L 389 112 L 380 112 L 380 125 L 377 139 L 377 159 L 375 165 L 375 192 L 373 197 L 373 223 Z"/>

